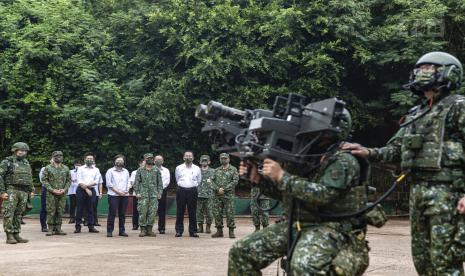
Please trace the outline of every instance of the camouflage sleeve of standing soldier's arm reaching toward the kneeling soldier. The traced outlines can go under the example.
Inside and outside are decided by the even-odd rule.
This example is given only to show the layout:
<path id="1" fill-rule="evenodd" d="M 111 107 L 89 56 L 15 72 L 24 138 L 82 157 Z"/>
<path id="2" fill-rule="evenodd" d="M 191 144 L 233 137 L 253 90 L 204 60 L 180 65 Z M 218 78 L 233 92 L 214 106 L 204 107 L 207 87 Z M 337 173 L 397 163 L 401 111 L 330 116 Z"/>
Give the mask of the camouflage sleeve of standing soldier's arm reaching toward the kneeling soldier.
<path id="1" fill-rule="evenodd" d="M 385 147 L 369 149 L 370 155 L 368 156 L 368 159 L 375 163 L 399 163 L 404 131 L 405 128 L 399 129 L 397 133 L 387 142 Z"/>

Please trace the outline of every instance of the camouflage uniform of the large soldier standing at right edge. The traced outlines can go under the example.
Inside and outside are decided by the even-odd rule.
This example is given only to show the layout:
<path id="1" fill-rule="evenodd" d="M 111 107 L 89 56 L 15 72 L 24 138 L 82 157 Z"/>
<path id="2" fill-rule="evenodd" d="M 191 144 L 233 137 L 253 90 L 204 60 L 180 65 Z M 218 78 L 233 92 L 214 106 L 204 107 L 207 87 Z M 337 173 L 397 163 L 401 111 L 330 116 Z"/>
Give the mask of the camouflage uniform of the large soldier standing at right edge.
<path id="1" fill-rule="evenodd" d="M 406 121 L 427 108 L 411 109 Z M 463 275 L 465 195 L 465 98 L 436 99 L 430 112 L 401 128 L 383 148 L 369 149 L 375 162 L 400 162 L 410 189 L 412 256 L 420 275 Z"/>

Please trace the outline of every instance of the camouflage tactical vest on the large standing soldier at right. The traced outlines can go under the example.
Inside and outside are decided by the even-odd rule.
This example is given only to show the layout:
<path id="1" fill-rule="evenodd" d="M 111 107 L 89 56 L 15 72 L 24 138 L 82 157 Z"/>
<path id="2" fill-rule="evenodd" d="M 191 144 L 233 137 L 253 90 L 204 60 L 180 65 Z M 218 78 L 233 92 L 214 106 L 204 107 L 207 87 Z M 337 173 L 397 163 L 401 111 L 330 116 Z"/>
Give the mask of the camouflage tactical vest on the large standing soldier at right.
<path id="1" fill-rule="evenodd" d="M 445 141 L 444 132 L 449 111 L 456 102 L 464 100 L 460 95 L 445 97 L 426 115 L 406 127 L 401 147 L 401 168 L 404 172 L 438 172 L 444 167 L 460 167 L 463 164 L 462 143 Z M 413 120 L 423 112 L 419 107 L 415 108 L 406 121 Z"/>

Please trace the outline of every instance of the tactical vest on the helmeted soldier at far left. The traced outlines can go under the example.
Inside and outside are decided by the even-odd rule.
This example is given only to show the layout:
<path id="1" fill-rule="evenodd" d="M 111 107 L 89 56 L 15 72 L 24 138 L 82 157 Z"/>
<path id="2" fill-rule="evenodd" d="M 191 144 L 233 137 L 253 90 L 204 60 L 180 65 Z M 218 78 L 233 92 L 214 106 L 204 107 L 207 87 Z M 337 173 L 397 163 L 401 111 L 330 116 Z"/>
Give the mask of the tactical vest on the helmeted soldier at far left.
<path id="1" fill-rule="evenodd" d="M 32 172 L 29 162 L 26 160 L 18 161 L 16 158 L 8 157 L 8 174 L 5 179 L 5 184 L 11 186 L 32 185 Z"/>

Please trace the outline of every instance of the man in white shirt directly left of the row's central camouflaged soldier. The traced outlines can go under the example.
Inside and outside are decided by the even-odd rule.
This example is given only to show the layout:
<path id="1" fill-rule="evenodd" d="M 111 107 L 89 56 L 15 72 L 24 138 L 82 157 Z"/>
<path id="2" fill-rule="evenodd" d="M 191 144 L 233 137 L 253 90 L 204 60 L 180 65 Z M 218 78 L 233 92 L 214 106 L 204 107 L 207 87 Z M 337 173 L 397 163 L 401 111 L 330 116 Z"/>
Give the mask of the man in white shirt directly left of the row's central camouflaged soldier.
<path id="1" fill-rule="evenodd" d="M 118 154 L 114 159 L 114 167 L 108 169 L 105 180 L 108 188 L 108 220 L 107 237 L 113 236 L 115 216 L 118 212 L 119 236 L 127 237 L 124 223 L 126 221 L 126 208 L 129 196 L 129 172 L 124 168 L 124 156 Z"/>

